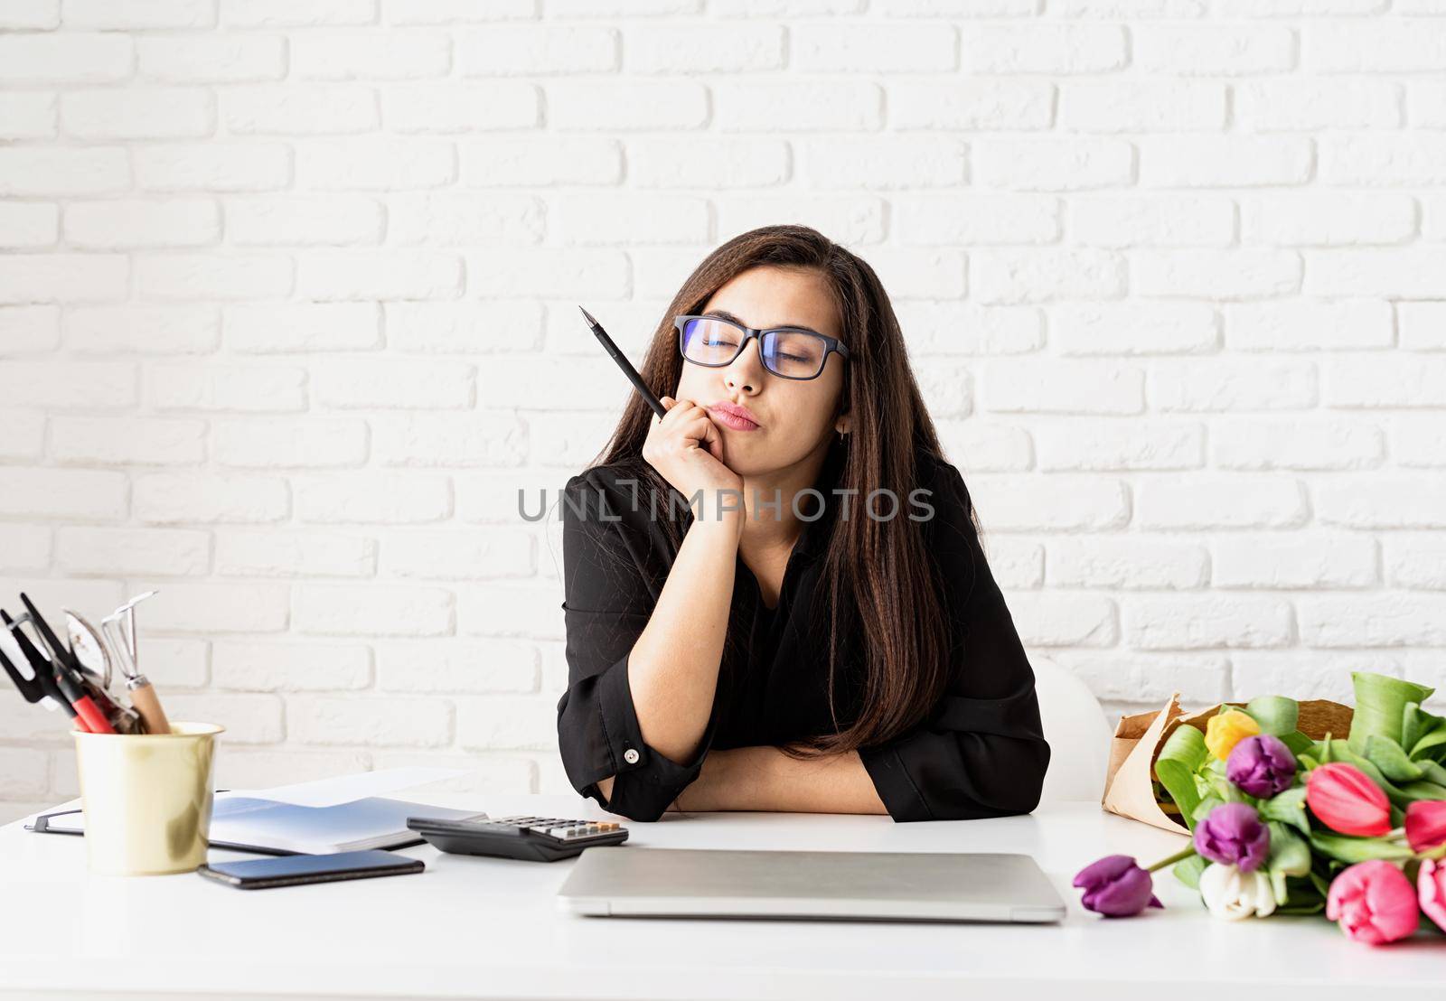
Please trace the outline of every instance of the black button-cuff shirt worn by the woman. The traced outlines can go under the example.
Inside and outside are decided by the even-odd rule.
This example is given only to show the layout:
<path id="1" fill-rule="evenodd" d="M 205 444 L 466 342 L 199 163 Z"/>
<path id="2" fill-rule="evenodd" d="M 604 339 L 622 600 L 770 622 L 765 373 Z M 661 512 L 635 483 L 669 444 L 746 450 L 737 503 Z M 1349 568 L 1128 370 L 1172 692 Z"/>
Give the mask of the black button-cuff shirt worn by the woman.
<path id="1" fill-rule="evenodd" d="M 829 499 L 804 521 L 775 609 L 737 558 L 729 636 L 713 713 L 690 761 L 648 746 L 628 686 L 628 655 L 648 625 L 677 548 L 654 519 L 645 490 L 617 466 L 567 482 L 562 499 L 562 609 L 568 689 L 557 704 L 558 746 L 573 787 L 633 820 L 656 820 L 698 777 L 711 749 L 772 745 L 834 733 L 829 709 L 827 582 L 823 557 L 842 509 L 830 493 L 842 469 L 834 444 L 817 489 Z M 859 757 L 894 820 L 960 820 L 1028 813 L 1040 798 L 1050 746 L 1040 726 L 1034 673 L 970 521 L 969 490 L 954 466 L 918 453 L 918 486 L 934 508 L 921 521 L 944 582 L 950 681 L 912 730 Z M 623 480 L 622 483 L 619 480 Z M 683 495 L 672 492 L 683 503 Z M 899 498 L 904 518 L 911 508 Z M 639 502 L 641 500 L 641 502 Z M 805 505 L 801 511 L 811 514 Z M 769 516 L 763 514 L 762 516 Z M 850 498 L 849 516 L 865 516 Z M 667 518 L 659 505 L 658 518 Z M 691 516 L 678 515 L 680 525 Z M 857 631 L 839 636 L 840 665 L 856 664 Z M 846 652 L 847 651 L 847 652 Z M 839 719 L 852 722 L 847 684 L 836 683 Z M 856 709 L 857 703 L 853 703 Z M 613 775 L 603 801 L 597 783 Z"/>

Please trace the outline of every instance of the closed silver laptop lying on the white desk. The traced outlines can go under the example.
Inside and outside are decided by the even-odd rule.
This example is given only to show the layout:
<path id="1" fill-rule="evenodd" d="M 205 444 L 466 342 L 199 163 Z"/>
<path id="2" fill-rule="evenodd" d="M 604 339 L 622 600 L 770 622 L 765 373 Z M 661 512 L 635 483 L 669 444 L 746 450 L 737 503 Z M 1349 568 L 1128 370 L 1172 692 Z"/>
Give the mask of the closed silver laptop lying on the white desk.
<path id="1" fill-rule="evenodd" d="M 558 908 L 597 917 L 1060 921 L 1028 855 L 590 848 Z"/>

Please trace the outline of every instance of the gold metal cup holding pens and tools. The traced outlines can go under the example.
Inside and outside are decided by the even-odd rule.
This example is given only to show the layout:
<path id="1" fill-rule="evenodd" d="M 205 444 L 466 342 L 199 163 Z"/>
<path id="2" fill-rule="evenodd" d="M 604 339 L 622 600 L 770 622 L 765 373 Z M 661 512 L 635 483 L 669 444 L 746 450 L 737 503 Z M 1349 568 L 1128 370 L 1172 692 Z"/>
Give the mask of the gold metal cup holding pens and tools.
<path id="1" fill-rule="evenodd" d="M 91 872 L 165 875 L 205 862 L 223 730 L 171 723 L 169 733 L 74 735 Z"/>

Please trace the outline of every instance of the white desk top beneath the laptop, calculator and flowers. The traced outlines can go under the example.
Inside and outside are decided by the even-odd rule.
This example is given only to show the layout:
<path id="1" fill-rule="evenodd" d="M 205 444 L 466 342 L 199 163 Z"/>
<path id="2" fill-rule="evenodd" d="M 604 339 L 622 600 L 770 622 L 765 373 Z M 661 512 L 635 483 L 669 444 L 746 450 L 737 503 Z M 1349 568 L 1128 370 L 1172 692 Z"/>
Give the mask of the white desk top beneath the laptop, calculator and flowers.
<path id="1" fill-rule="evenodd" d="M 571 796 L 438 797 L 493 816 L 606 817 Z M 1099 855 L 1148 864 L 1167 832 L 1053 804 L 1025 817 L 895 825 L 888 817 L 711 813 L 632 823 L 629 845 L 1034 855 L 1070 904 L 1061 924 L 596 919 L 562 914 L 565 862 L 441 855 L 422 875 L 241 893 L 197 875 L 85 872 L 84 843 L 0 829 L 0 995 L 448 998 L 1207 997 L 1223 984 L 1312 998 L 1446 981 L 1446 936 L 1372 949 L 1320 917 L 1222 921 L 1170 874 L 1167 910 L 1105 920 L 1071 875 Z M 215 856 L 231 856 L 217 852 Z M 1024 994 L 1021 994 L 1024 991 Z M 46 997 L 52 997 L 46 994 Z M 1430 997 L 1430 994 L 1423 995 Z"/>

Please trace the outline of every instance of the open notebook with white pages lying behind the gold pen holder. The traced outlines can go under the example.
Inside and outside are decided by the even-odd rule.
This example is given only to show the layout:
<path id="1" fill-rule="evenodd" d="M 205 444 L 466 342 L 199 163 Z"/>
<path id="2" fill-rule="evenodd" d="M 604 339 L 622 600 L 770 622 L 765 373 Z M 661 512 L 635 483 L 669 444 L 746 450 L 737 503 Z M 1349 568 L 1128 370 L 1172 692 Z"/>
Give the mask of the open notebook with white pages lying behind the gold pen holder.
<path id="1" fill-rule="evenodd" d="M 265 855 L 334 855 L 373 848 L 421 845 L 406 819 L 425 814 L 461 820 L 477 810 L 447 810 L 405 800 L 366 797 L 335 806 L 296 806 L 247 793 L 217 793 L 211 810 L 211 848 Z M 74 810 L 42 814 L 30 830 L 84 835 L 85 814 Z"/>

